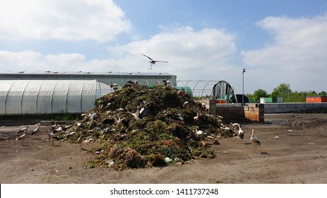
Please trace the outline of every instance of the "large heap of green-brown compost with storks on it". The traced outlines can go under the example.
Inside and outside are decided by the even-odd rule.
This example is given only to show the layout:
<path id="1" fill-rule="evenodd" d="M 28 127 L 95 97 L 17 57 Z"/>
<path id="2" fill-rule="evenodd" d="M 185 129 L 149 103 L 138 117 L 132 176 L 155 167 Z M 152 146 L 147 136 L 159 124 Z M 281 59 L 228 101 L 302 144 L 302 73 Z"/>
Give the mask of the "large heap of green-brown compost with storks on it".
<path id="1" fill-rule="evenodd" d="M 69 141 L 97 141 L 101 146 L 88 167 L 145 168 L 214 158 L 210 144 L 219 136 L 232 136 L 222 129 L 222 117 L 208 115 L 203 104 L 185 91 L 169 86 L 127 84 L 99 98 L 95 108 L 69 129 Z"/>

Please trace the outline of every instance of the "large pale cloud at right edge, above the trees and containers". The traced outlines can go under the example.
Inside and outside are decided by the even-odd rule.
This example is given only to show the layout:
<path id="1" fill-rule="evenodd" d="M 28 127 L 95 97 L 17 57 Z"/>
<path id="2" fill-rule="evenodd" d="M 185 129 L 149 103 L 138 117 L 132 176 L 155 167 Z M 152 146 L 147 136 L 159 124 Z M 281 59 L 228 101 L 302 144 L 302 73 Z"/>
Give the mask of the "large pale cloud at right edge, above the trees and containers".
<path id="1" fill-rule="evenodd" d="M 326 89 L 327 14 L 267 17 L 257 25 L 273 35 L 270 45 L 241 52 L 244 63 L 257 72 L 257 81 L 272 85 L 270 90 L 284 82 L 298 91 Z"/>

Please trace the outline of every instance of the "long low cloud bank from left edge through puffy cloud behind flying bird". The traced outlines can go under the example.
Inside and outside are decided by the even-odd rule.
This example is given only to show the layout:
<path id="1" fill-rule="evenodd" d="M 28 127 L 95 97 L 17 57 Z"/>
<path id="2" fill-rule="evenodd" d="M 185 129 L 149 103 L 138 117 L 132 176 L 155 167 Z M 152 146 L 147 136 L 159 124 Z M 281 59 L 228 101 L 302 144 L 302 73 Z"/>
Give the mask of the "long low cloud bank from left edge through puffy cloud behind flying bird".
<path id="1" fill-rule="evenodd" d="M 108 47 L 108 50 L 108 59 L 93 60 L 87 60 L 83 54 L 0 51 L 0 66 L 3 71 L 167 72 L 177 75 L 178 80 L 216 81 L 234 81 L 231 73 L 237 68 L 230 61 L 237 52 L 234 35 L 218 29 L 166 28 L 148 40 Z M 149 59 L 141 53 L 169 63 L 157 63 L 150 70 Z"/>

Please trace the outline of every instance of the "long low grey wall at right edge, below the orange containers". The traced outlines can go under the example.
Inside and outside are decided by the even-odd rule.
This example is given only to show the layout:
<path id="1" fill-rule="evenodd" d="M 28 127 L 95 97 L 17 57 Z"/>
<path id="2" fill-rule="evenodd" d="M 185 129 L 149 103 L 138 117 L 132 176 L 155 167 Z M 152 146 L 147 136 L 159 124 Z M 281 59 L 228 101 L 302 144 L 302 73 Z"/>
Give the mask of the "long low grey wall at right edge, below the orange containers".
<path id="1" fill-rule="evenodd" d="M 263 103 L 262 105 L 264 105 L 264 113 L 294 112 L 327 107 L 327 103 Z"/>

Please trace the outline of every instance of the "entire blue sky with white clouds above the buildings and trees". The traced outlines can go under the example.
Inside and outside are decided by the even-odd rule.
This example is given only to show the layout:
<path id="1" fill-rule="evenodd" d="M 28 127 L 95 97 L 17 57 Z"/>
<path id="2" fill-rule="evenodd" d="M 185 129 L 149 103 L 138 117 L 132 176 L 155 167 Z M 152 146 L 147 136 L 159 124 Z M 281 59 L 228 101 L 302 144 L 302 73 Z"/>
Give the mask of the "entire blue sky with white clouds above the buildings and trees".
<path id="1" fill-rule="evenodd" d="M 142 54 L 168 63 L 149 69 Z M 319 93 L 327 1 L 1 0 L 5 71 L 167 72 L 227 81 L 236 93 L 281 83 Z"/>

